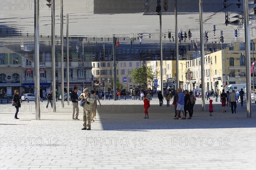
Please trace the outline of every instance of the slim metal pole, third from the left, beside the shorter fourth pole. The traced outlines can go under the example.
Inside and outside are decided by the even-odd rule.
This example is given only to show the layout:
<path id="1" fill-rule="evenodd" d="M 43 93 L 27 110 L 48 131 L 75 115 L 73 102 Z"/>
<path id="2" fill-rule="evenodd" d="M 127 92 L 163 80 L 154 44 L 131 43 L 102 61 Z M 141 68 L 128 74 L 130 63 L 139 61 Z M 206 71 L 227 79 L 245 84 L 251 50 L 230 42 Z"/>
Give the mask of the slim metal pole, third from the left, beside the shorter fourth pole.
<path id="1" fill-rule="evenodd" d="M 64 108 L 63 0 L 61 2 L 61 107 Z"/>

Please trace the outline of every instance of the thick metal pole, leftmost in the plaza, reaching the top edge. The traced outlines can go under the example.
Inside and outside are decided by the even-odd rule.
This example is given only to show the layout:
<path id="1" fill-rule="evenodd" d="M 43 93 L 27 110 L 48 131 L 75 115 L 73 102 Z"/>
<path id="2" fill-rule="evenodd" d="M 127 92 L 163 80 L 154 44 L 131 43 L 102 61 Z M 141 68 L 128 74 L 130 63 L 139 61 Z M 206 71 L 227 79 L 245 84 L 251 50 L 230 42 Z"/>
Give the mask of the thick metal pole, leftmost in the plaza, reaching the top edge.
<path id="1" fill-rule="evenodd" d="M 39 0 L 35 3 L 35 119 L 40 120 L 40 75 L 39 75 Z"/>

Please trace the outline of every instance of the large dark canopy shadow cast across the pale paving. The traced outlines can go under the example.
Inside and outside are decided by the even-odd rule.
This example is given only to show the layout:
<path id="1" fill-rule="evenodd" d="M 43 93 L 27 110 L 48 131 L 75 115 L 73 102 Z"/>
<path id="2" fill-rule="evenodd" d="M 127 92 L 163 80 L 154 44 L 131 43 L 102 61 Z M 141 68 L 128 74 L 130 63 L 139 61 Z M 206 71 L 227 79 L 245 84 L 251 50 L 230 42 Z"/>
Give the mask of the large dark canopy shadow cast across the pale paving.
<path id="1" fill-rule="evenodd" d="M 207 106 L 208 107 L 208 106 Z M 201 111 L 201 105 L 195 105 L 192 119 L 175 120 L 174 106 L 160 107 L 151 105 L 148 109 L 149 119 L 144 119 L 142 104 L 102 105 L 97 107 L 103 130 L 158 130 L 158 129 L 212 129 L 212 128 L 250 128 L 256 127 L 255 108 L 252 109 L 252 118 L 246 118 L 246 110 L 236 109 L 232 114 L 230 107 L 223 113 L 221 105 L 216 104 L 213 116 L 208 111 Z M 181 113 L 182 117 L 182 113 Z M 187 114 L 187 118 L 189 114 Z"/>

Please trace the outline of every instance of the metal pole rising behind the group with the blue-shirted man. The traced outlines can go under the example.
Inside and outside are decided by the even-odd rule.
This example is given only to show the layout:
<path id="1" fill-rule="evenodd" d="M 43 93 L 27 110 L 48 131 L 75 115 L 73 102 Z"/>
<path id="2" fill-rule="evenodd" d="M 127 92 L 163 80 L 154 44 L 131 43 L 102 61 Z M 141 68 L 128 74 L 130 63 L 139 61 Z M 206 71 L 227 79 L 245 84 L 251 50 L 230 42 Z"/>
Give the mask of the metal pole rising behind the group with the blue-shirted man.
<path id="1" fill-rule="evenodd" d="M 177 0 L 175 0 L 175 43 L 176 43 L 176 92 L 179 86 L 179 43 L 178 43 L 178 19 L 177 19 Z"/>

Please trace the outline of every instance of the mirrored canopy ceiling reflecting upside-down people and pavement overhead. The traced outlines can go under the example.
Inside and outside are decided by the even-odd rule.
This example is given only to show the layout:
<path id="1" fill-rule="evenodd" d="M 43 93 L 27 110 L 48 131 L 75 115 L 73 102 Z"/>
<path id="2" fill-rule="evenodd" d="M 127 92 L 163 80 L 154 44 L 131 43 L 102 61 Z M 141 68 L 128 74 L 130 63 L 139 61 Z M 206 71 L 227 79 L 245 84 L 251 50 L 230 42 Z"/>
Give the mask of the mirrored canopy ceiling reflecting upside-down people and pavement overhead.
<path id="1" fill-rule="evenodd" d="M 46 4 L 40 1 L 40 52 L 51 52 L 51 10 Z M 91 52 L 93 61 L 111 61 L 115 35 L 117 61 L 160 60 L 156 10 L 161 7 L 163 60 L 176 60 L 174 4 L 175 0 L 63 0 L 64 35 L 69 14 L 70 52 Z M 206 53 L 244 42 L 243 4 L 243 0 L 203 0 Z M 256 0 L 249 0 L 248 5 L 253 39 Z M 199 0 L 177 0 L 180 60 L 200 56 L 198 6 Z M 0 9 L 0 44 L 33 60 L 34 1 L 1 1 Z M 55 0 L 55 35 L 56 52 L 60 52 L 59 0 Z"/>

